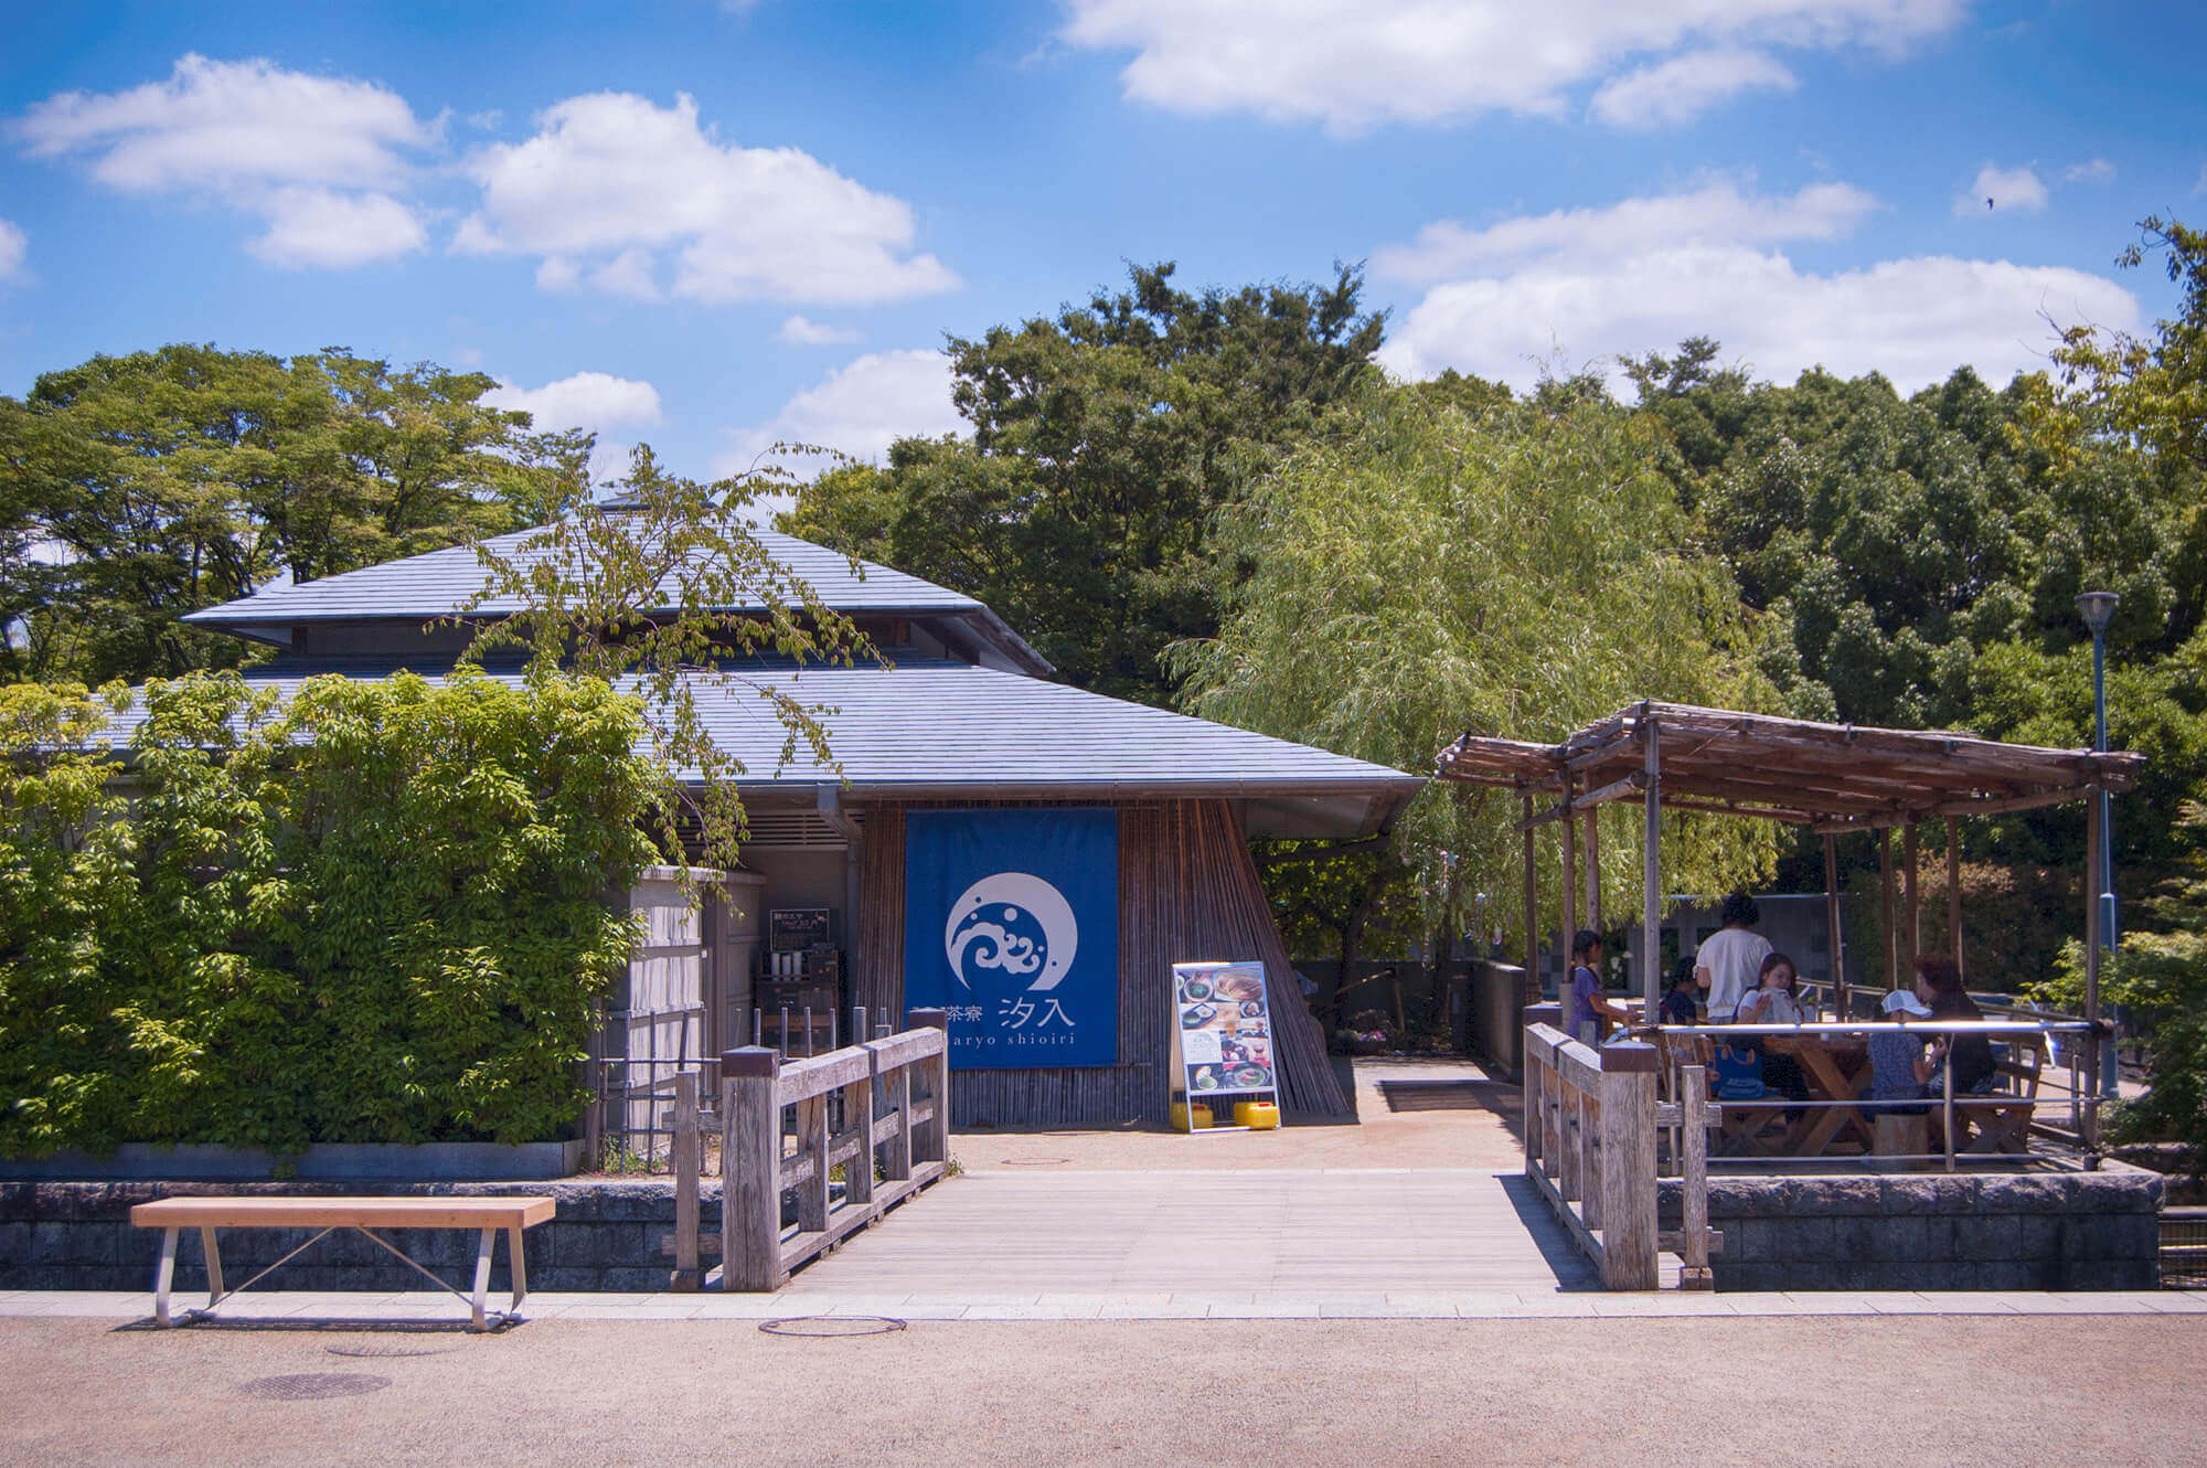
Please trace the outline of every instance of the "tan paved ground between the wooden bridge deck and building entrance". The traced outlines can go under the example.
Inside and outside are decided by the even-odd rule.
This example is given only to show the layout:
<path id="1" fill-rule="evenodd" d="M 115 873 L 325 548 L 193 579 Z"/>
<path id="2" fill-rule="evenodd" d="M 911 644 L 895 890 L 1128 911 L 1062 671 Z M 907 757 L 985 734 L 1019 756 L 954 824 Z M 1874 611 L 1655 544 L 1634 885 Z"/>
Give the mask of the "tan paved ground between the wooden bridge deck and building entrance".
<path id="1" fill-rule="evenodd" d="M 1393 1088 L 1393 1110 L 1386 1091 Z M 1073 1168 L 1101 1172 L 1240 1172 L 1265 1168 L 1481 1168 L 1516 1170 L 1510 1132 L 1521 1091 L 1490 1082 L 1468 1060 L 1357 1060 L 1355 1121 L 1291 1119 L 1276 1132 L 1190 1137 L 1163 1126 L 1101 1130 L 967 1128 L 951 1157 L 973 1172 Z"/>

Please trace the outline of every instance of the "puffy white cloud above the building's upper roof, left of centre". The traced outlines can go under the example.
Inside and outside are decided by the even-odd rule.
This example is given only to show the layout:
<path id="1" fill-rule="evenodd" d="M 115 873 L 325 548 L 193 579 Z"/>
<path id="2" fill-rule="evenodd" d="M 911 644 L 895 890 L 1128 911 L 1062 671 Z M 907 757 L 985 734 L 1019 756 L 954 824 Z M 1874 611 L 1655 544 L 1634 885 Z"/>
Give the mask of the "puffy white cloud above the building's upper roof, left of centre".
<path id="1" fill-rule="evenodd" d="M 468 174 L 483 199 L 452 247 L 543 256 L 545 289 L 636 294 L 653 280 L 706 302 L 861 305 L 958 285 L 936 256 L 911 254 L 909 203 L 797 148 L 722 143 L 691 97 L 569 97 L 525 143 L 477 150 Z"/>

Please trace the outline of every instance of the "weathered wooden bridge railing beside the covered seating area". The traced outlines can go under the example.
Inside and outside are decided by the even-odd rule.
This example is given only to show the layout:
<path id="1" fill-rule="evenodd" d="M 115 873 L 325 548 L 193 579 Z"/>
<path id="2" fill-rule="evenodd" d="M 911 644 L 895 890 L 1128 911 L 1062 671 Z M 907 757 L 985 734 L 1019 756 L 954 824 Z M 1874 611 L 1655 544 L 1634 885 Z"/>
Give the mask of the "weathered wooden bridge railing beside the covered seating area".
<path id="1" fill-rule="evenodd" d="M 1604 1289 L 1655 1289 L 1657 1252 L 1684 1260 L 1680 1283 L 1708 1289 L 1708 1106 L 1702 1066 L 1686 1066 L 1680 1099 L 1657 1102 L 1657 1051 L 1620 1042 L 1596 1051 L 1554 1024 L 1525 1026 L 1525 1177 L 1602 1272 Z M 1702 1126 L 1693 1126 L 1699 1117 Z M 1684 1219 L 1655 1227 L 1655 1132 L 1684 1132 Z"/>

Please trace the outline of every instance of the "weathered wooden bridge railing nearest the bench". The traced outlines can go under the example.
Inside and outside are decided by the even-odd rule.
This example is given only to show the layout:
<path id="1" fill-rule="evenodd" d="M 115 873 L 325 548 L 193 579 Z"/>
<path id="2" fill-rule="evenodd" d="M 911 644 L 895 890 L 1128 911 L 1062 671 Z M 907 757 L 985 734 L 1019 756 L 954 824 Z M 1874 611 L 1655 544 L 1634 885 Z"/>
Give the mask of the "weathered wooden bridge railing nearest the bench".
<path id="1" fill-rule="evenodd" d="M 680 1079 L 671 1238 L 678 1289 L 697 1287 L 702 1256 L 713 1252 L 722 1256 L 722 1289 L 781 1289 L 792 1269 L 947 1172 L 947 1020 L 940 1009 L 914 1009 L 909 1022 L 907 1031 L 803 1060 L 766 1046 L 724 1051 L 717 1115 L 697 1106 L 693 1075 Z M 786 1128 L 790 1113 L 795 1126 Z M 715 1121 L 717 1238 L 700 1232 L 697 1205 L 700 1141 Z M 830 1208 L 836 1168 L 843 1203 Z M 781 1194 L 790 1190 L 797 1230 L 783 1234 Z"/>

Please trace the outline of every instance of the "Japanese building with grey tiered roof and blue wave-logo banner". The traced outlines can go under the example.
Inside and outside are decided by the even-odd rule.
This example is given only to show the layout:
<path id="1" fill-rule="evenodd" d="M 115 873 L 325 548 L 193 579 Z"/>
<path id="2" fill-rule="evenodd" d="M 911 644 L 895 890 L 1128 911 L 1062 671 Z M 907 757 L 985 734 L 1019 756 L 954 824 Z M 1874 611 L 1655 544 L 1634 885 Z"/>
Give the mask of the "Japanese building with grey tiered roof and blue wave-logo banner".
<path id="1" fill-rule="evenodd" d="M 1421 777 L 1051 682 L 971 596 L 761 539 L 887 667 L 742 664 L 834 709 L 841 777 L 803 751 L 781 764 L 783 728 L 753 687 L 697 682 L 715 742 L 744 768 L 744 870 L 711 885 L 702 923 L 653 934 L 631 965 L 614 1055 L 693 1064 L 755 1038 L 825 1049 L 854 1007 L 898 1022 L 940 1007 L 960 1126 L 1161 1119 L 1170 965 L 1262 960 L 1282 1102 L 1346 1110 L 1247 841 L 1375 834 Z M 188 620 L 271 645 L 247 678 L 278 693 L 318 673 L 435 678 L 472 634 L 428 625 L 481 585 L 475 552 L 455 547 Z M 640 905 L 671 901 L 667 881 L 647 890 L 660 896 Z"/>

